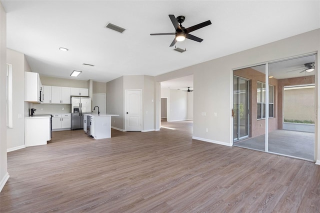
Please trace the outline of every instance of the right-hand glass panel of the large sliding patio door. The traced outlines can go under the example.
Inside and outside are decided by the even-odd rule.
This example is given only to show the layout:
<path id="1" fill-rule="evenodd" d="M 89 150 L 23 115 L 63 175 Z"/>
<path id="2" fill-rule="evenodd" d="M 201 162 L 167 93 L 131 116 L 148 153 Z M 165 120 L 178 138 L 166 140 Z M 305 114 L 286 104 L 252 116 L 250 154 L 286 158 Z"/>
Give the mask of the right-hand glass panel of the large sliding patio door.
<path id="1" fill-rule="evenodd" d="M 314 160 L 314 62 L 308 55 L 269 64 L 267 151 Z"/>

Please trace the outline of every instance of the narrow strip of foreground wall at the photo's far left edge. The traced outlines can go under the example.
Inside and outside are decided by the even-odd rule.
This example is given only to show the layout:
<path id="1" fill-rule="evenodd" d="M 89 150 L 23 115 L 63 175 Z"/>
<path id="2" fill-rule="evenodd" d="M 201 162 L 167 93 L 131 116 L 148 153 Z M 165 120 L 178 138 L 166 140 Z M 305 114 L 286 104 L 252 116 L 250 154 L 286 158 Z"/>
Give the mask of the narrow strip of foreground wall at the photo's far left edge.
<path id="1" fill-rule="evenodd" d="M 6 160 L 6 13 L 0 2 L 0 191 L 9 178 Z"/>

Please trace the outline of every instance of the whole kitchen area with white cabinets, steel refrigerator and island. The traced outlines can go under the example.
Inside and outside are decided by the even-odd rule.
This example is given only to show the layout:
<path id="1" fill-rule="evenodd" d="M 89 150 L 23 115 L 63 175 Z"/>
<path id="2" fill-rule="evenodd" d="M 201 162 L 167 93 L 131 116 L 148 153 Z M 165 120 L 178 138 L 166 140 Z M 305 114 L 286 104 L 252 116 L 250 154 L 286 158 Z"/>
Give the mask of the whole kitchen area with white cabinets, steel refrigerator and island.
<path id="1" fill-rule="evenodd" d="M 42 81 L 50 85 L 44 85 Z M 70 81 L 73 84 L 70 83 Z M 83 82 L 79 80 L 66 80 L 63 78 L 55 79 L 47 76 L 41 77 L 35 72 L 24 72 L 24 100 L 30 102 L 30 108 L 28 108 L 29 113 L 24 116 L 25 146 L 46 144 L 46 141 L 50 139 L 48 135 L 52 135 L 51 131 L 60 130 L 83 129 L 85 133 L 94 139 L 111 137 L 110 117 L 118 115 L 105 114 L 104 83 L 94 83 L 95 85 L 99 85 L 101 88 L 99 91 L 103 92 L 94 92 L 94 94 L 102 94 L 100 97 L 104 97 L 104 99 L 102 101 L 93 99 L 91 102 L 89 88 L 85 88 L 89 87 L 90 83 L 90 80 Z M 91 92 L 91 96 L 92 94 L 93 92 Z M 97 96 L 95 95 L 94 97 Z M 99 103 L 99 106 L 95 105 L 96 103 Z M 95 115 L 98 115 L 98 117 L 95 117 Z M 91 117 L 91 122 L 88 122 L 88 126 L 86 123 L 87 116 Z M 43 126 L 45 125 L 43 119 L 47 119 L 47 122 L 49 122 L 49 127 L 46 126 L 46 129 L 49 128 L 49 130 L 43 130 Z M 99 121 L 98 123 L 98 120 L 101 119 L 102 122 Z M 90 120 L 89 117 L 88 120 Z M 92 126 L 90 125 L 91 123 Z M 93 125 L 94 123 L 95 125 Z M 91 131 L 87 131 L 87 129 Z M 48 133 L 48 131 L 50 133 Z"/>

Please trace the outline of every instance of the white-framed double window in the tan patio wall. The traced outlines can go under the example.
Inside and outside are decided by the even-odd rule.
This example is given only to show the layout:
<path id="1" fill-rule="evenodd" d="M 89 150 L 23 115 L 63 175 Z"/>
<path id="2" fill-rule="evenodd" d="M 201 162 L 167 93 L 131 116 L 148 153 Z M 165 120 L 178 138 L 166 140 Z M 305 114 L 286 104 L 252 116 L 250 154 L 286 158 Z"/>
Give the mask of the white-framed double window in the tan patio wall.
<path id="1" fill-rule="evenodd" d="M 257 82 L 256 89 L 257 119 L 265 118 L 265 83 Z M 274 88 L 269 85 L 269 117 L 273 117 Z"/>

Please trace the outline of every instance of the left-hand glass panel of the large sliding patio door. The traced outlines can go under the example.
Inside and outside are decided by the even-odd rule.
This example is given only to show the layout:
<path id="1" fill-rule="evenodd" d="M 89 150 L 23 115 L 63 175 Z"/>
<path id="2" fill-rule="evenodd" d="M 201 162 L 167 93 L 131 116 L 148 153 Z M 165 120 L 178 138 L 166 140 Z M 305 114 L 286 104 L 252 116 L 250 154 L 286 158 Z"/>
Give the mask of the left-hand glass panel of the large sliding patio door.
<path id="1" fill-rule="evenodd" d="M 233 145 L 264 151 L 265 65 L 233 74 Z"/>

